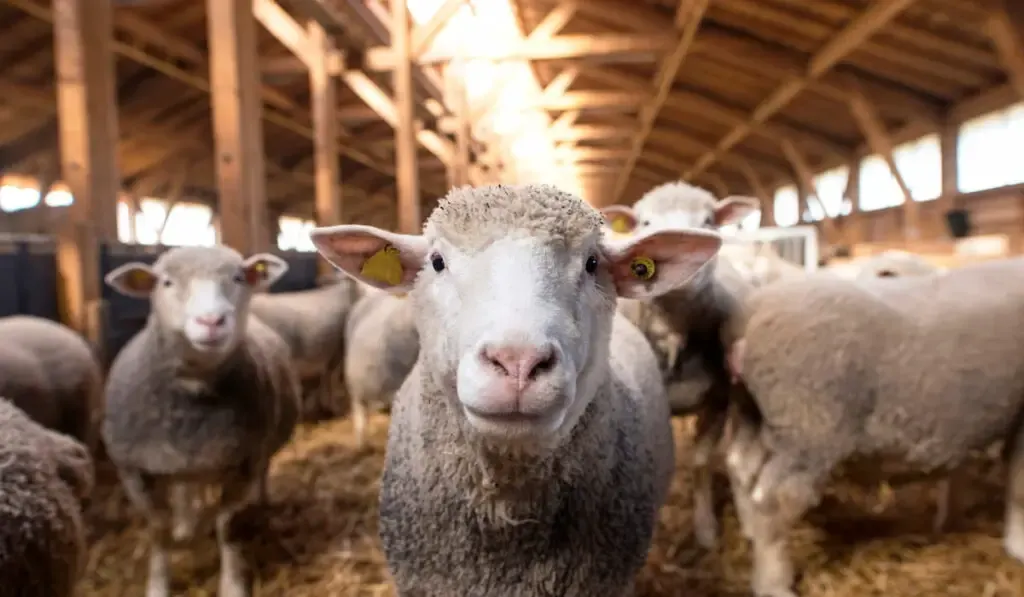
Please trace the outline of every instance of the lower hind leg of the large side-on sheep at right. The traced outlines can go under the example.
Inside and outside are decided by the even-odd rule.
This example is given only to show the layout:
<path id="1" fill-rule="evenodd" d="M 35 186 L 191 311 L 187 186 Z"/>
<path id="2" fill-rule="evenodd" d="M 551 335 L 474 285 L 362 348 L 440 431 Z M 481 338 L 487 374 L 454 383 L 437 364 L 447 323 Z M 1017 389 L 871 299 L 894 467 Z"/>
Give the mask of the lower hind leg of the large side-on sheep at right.
<path id="1" fill-rule="evenodd" d="M 754 536 L 752 587 L 757 597 L 796 597 L 787 536 L 820 500 L 819 487 L 825 476 L 779 454 L 773 454 L 761 470 L 751 489 L 753 508 L 748 512 Z"/>

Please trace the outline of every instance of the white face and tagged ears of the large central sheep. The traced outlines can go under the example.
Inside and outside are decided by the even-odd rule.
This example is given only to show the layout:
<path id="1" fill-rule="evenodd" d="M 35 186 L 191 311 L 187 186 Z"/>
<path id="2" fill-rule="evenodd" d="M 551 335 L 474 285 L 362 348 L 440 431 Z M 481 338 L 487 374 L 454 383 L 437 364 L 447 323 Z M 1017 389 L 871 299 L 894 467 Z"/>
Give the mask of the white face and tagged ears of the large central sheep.
<path id="1" fill-rule="evenodd" d="M 599 214 L 550 186 L 461 193 L 469 199 L 450 196 L 424 234 L 342 225 L 313 242 L 346 273 L 410 292 L 422 369 L 467 433 L 557 443 L 606 379 L 615 297 L 684 285 L 721 239 L 671 228 L 602 239 Z"/>

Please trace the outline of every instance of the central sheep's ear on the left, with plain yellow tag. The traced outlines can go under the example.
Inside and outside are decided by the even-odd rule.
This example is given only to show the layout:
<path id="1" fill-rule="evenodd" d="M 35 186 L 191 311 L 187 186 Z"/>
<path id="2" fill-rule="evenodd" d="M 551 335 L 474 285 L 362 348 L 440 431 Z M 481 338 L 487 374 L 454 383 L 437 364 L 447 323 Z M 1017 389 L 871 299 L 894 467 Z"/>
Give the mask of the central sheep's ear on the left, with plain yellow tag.
<path id="1" fill-rule="evenodd" d="M 422 234 L 399 234 L 374 226 L 343 224 L 309 232 L 332 265 L 366 285 L 393 294 L 408 293 L 427 257 Z"/>

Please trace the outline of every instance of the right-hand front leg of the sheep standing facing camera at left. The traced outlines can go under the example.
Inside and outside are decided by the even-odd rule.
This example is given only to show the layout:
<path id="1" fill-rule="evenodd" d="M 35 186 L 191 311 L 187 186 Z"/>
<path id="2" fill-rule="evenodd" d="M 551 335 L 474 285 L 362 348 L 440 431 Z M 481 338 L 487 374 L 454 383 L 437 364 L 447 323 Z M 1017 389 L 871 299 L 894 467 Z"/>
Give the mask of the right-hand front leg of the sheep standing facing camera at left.
<path id="1" fill-rule="evenodd" d="M 265 470 L 257 468 L 257 470 Z M 217 597 L 251 597 L 252 571 L 241 542 L 231 536 L 231 520 L 259 495 L 260 477 L 237 479 L 224 485 L 217 513 L 217 544 L 220 548 L 220 580 Z M 147 596 L 148 597 L 148 596 Z"/>

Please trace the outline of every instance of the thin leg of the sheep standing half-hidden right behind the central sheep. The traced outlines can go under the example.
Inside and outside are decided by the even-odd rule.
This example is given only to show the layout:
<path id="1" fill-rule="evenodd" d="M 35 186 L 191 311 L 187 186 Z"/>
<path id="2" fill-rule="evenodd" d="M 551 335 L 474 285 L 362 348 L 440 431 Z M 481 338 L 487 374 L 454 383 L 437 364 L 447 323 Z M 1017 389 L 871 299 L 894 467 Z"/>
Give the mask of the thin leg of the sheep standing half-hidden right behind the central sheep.
<path id="1" fill-rule="evenodd" d="M 727 410 L 713 402 L 697 415 L 693 446 L 693 529 L 697 543 L 705 549 L 714 549 L 718 543 L 711 458 L 722 438 L 727 415 Z"/>

